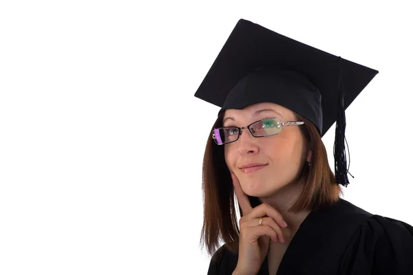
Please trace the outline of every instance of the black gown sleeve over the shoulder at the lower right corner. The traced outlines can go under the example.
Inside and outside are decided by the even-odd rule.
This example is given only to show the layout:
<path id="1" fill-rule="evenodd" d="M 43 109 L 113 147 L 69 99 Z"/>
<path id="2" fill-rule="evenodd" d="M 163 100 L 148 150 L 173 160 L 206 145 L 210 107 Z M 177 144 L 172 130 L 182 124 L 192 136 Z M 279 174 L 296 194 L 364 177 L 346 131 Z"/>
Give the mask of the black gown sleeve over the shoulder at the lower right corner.
<path id="1" fill-rule="evenodd" d="M 412 225 L 374 214 L 343 254 L 341 274 L 413 274 Z"/>

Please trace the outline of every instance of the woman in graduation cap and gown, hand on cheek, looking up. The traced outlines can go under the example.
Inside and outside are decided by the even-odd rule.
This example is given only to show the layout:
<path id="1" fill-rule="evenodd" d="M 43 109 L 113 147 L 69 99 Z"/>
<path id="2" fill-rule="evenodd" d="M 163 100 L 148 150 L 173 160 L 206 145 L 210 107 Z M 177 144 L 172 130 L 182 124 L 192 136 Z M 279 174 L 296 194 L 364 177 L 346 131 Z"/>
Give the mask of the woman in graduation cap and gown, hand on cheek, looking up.
<path id="1" fill-rule="evenodd" d="M 377 73 L 237 23 L 195 94 L 221 107 L 203 164 L 208 274 L 413 274 L 413 227 L 340 197 L 344 112 Z"/>

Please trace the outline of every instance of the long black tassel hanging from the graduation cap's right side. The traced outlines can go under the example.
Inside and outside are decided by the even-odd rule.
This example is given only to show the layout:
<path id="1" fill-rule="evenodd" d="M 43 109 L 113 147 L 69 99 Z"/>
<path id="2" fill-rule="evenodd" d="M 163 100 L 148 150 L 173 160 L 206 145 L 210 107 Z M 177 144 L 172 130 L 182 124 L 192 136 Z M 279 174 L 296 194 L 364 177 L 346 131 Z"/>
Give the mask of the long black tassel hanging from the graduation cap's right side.
<path id="1" fill-rule="evenodd" d="M 347 187 L 349 184 L 347 173 L 347 155 L 346 155 L 346 111 L 344 109 L 344 83 L 341 72 L 341 57 L 339 57 L 339 108 L 337 113 L 335 142 L 334 142 L 334 160 L 335 160 L 335 179 L 337 184 Z M 348 144 L 347 144 L 348 145 Z M 348 151 L 348 163 L 350 165 L 350 151 Z M 350 173 L 349 173 L 350 174 Z M 351 175 L 351 174 L 350 174 Z M 351 175 L 352 176 L 352 175 Z M 353 176 L 352 176 L 353 177 Z M 354 178 L 354 177 L 353 177 Z"/>

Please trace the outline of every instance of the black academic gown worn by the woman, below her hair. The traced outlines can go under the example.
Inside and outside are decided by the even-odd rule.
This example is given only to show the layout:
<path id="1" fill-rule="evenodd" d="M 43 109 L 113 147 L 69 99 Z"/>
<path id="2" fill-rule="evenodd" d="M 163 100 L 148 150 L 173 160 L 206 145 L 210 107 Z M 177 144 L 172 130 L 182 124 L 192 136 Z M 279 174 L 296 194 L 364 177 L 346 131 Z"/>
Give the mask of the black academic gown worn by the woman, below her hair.
<path id="1" fill-rule="evenodd" d="M 231 275 L 237 254 L 222 246 L 214 256 L 208 275 Z M 258 274 L 268 274 L 268 256 Z M 277 271 L 285 274 L 413 275 L 413 227 L 340 199 L 301 223 Z"/>

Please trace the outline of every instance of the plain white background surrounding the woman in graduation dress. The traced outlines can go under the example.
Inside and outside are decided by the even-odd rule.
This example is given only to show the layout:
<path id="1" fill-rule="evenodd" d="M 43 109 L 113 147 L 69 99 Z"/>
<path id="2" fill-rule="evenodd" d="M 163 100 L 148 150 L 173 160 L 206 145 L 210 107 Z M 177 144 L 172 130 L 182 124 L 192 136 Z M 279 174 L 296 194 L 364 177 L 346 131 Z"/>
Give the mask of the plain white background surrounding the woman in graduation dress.
<path id="1" fill-rule="evenodd" d="M 286 2 L 1 1 L 0 274 L 207 273 L 193 94 L 241 18 L 379 70 L 344 198 L 413 224 L 407 1 Z"/>

